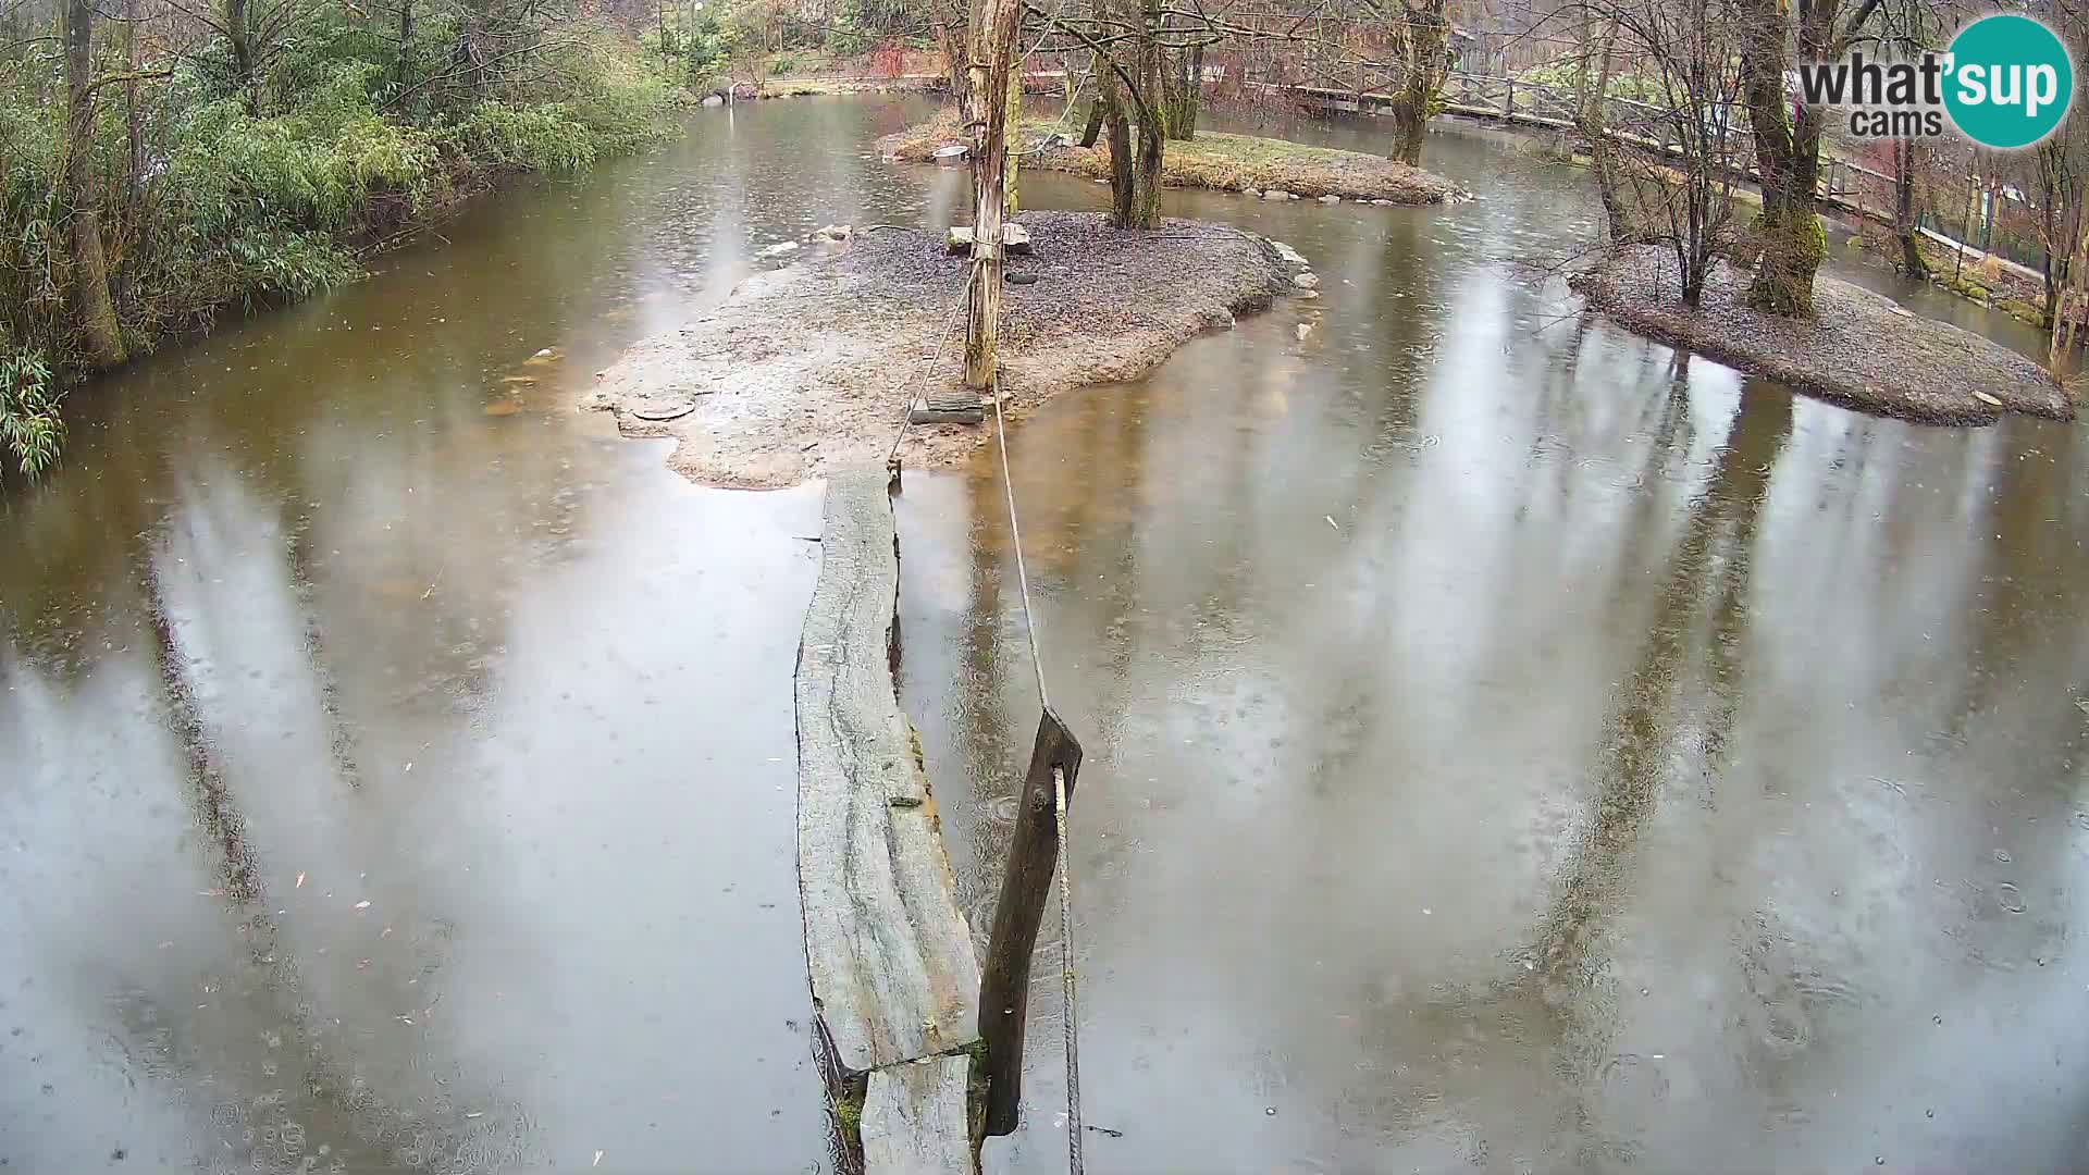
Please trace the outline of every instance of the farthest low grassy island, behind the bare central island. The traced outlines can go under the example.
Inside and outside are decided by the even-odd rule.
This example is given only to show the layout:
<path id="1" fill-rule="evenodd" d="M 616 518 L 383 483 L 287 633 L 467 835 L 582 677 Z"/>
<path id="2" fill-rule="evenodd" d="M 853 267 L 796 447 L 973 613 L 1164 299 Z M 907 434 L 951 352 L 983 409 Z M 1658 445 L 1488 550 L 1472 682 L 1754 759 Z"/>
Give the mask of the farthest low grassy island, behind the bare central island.
<path id="1" fill-rule="evenodd" d="M 1065 142 L 1065 128 L 1053 121 L 1024 121 L 1017 142 L 1024 144 L 1024 167 L 1072 171 L 1090 180 L 1109 178 L 1109 148 Z M 944 111 L 877 140 L 879 155 L 925 163 L 938 146 L 965 142 L 957 115 Z M 1283 192 L 1291 197 L 1341 197 L 1345 201 L 1379 201 L 1393 205 L 1439 205 L 1464 192 L 1418 167 L 1393 163 L 1360 151 L 1308 146 L 1281 138 L 1251 134 L 1197 132 L 1197 138 L 1170 142 L 1161 155 L 1161 182 L 1178 188 L 1220 188 L 1228 192 Z M 1281 197 L 1278 197 L 1281 199 Z"/>

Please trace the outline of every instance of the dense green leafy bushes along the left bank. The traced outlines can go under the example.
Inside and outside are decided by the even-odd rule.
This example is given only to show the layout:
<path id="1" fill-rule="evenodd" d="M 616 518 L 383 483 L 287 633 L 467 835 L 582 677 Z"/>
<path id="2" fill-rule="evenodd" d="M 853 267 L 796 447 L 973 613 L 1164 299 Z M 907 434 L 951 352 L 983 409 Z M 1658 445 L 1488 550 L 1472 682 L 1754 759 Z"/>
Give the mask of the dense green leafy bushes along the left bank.
<path id="1" fill-rule="evenodd" d="M 230 82 L 230 59 L 178 63 L 140 86 L 136 176 L 123 90 L 102 90 L 84 148 L 134 349 L 207 328 L 226 307 L 355 280 L 357 249 L 495 174 L 574 174 L 660 136 L 673 88 L 629 40 L 585 23 L 558 36 L 508 23 L 493 29 L 510 38 L 497 44 L 537 38 L 537 48 L 493 73 L 457 65 L 460 13 L 426 4 L 401 52 L 397 8 L 315 8 L 267 46 L 261 115 Z M 71 309 L 58 82 L 48 69 L 0 75 L 0 452 L 29 473 L 56 460 L 58 389 L 90 374 Z"/>

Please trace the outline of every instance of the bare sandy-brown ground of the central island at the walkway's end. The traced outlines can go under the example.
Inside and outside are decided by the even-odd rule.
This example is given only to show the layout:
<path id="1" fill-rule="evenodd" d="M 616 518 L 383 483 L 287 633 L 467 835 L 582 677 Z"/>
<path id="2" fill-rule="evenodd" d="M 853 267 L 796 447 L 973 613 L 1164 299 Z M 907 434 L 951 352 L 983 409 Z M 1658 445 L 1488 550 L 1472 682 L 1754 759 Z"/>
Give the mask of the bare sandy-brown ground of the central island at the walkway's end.
<path id="1" fill-rule="evenodd" d="M 1197 332 L 1266 307 L 1301 270 L 1268 240 L 1214 224 L 1116 232 L 1090 213 L 1026 213 L 1022 224 L 1036 255 L 1009 268 L 1036 280 L 1003 293 L 1011 414 L 1136 378 Z M 969 261 L 917 230 L 806 253 L 633 345 L 583 408 L 614 412 L 631 437 L 675 437 L 668 464 L 704 485 L 779 487 L 882 464 L 905 404 L 959 378 Z M 913 427 L 900 456 L 950 464 L 984 439 L 978 427 Z"/>

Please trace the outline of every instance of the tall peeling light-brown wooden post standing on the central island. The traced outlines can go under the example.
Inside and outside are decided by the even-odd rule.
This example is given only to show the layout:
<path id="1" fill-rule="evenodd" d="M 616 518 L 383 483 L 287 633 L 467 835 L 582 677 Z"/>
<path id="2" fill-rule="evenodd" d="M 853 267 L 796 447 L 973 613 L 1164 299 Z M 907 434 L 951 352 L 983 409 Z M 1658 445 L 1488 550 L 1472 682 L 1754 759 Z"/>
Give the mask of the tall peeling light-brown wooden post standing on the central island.
<path id="1" fill-rule="evenodd" d="M 971 88 L 971 297 L 965 318 L 965 387 L 994 383 L 994 343 L 1001 328 L 1001 211 L 1009 151 L 1009 63 L 1015 56 L 1017 0 L 982 0 L 980 36 L 967 67 Z"/>

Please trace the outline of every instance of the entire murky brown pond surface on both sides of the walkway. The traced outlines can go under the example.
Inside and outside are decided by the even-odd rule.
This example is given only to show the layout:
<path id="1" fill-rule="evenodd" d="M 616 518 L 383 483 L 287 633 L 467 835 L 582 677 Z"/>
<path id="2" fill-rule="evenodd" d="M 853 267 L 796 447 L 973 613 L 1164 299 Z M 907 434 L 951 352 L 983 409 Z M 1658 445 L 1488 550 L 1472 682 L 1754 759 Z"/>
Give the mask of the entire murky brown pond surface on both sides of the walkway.
<path id="1" fill-rule="evenodd" d="M 0 1162 L 827 1162 L 817 493 L 694 489 L 560 408 L 775 240 L 946 222 L 957 174 L 869 151 L 919 111 L 704 111 L 75 397 L 0 500 Z M 1170 192 L 1324 297 L 1011 431 L 1088 744 L 1088 1162 L 2079 1169 L 2081 435 L 1563 316 L 1502 259 L 1592 230 L 1581 176 L 1483 132 L 1431 165 L 1485 199 Z M 898 502 L 902 700 L 982 926 L 1036 719 L 999 477 Z M 1055 960 L 1049 918 L 994 1171 L 1063 1165 Z"/>

